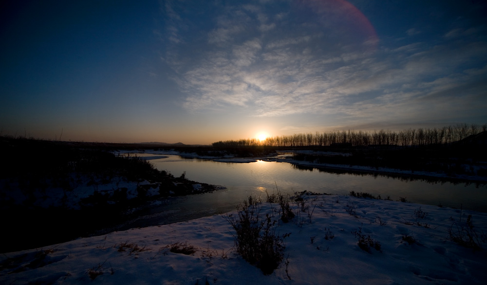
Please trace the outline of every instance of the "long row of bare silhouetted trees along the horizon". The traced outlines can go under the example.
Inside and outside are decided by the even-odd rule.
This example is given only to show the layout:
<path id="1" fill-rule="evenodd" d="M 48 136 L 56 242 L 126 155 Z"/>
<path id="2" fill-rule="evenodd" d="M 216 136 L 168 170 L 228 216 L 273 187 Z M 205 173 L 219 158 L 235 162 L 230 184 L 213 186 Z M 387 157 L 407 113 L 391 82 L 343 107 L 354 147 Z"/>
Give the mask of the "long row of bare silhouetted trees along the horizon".
<path id="1" fill-rule="evenodd" d="M 315 134 L 300 133 L 287 136 L 266 138 L 265 141 L 257 139 L 241 139 L 237 141 L 213 142 L 214 147 L 242 147 L 242 146 L 372 146 L 372 145 L 400 145 L 422 146 L 439 145 L 461 141 L 470 135 L 487 130 L 487 124 L 458 124 L 441 128 L 409 128 L 399 132 L 390 130 L 342 130 Z"/>

